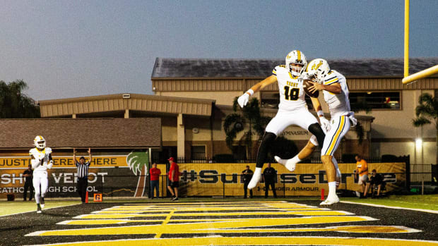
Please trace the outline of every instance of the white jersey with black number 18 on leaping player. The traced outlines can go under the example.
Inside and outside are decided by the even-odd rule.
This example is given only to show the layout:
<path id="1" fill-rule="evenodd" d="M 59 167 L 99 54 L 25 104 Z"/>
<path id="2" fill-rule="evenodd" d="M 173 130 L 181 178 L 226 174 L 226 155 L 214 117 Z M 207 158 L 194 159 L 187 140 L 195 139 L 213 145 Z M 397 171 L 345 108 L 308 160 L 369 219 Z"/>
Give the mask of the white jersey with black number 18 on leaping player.
<path id="1" fill-rule="evenodd" d="M 278 90 L 280 92 L 278 111 L 292 111 L 302 109 L 303 107 L 307 109 L 302 80 L 292 76 L 284 65 L 276 66 L 272 73 L 277 77 Z"/>

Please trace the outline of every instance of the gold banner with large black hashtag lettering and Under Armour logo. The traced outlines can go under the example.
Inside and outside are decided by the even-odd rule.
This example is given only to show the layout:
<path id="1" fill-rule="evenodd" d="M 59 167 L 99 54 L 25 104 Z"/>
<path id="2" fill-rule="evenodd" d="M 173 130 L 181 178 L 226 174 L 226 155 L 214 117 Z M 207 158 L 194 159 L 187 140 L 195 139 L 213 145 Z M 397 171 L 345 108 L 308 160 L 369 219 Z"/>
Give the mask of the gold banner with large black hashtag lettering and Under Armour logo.
<path id="1" fill-rule="evenodd" d="M 242 196 L 244 182 L 241 173 L 249 165 L 252 171 L 256 164 L 179 164 L 181 175 L 181 194 L 187 196 Z M 384 176 L 386 191 L 398 190 L 405 185 L 404 163 L 369 164 L 369 171 L 377 169 Z M 266 167 L 266 165 L 265 165 Z M 290 173 L 280 164 L 272 164 L 278 176 L 276 182 L 277 195 L 297 196 L 321 195 L 321 190 L 328 193 L 328 182 L 323 164 L 297 164 Z M 356 164 L 339 164 L 341 173 L 340 189 L 360 190 L 354 171 Z M 264 195 L 265 184 L 259 183 L 253 189 L 254 195 Z M 269 191 L 269 195 L 271 195 Z"/>

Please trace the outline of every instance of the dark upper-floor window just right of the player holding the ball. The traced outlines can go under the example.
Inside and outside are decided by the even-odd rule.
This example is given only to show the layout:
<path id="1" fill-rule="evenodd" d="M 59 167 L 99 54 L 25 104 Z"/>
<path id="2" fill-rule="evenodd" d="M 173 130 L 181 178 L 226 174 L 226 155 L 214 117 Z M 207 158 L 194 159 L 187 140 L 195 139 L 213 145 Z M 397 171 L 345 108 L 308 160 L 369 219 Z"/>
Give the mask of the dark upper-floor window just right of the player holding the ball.
<path id="1" fill-rule="evenodd" d="M 351 109 L 400 109 L 400 92 L 350 92 Z"/>

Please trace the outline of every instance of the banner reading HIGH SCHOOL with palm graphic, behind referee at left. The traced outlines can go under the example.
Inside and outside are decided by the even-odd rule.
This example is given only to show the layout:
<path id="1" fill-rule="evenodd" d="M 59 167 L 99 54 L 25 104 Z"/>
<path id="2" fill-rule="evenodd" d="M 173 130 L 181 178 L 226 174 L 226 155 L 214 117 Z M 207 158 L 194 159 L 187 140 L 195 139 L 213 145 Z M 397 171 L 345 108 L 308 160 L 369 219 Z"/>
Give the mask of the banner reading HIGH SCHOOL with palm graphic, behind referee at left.
<path id="1" fill-rule="evenodd" d="M 88 161 L 88 156 L 85 160 Z M 88 192 L 90 195 L 103 193 L 104 197 L 147 197 L 148 160 L 148 152 L 136 151 L 126 155 L 93 156 L 88 169 Z M 78 196 L 73 156 L 53 156 L 53 161 L 52 168 L 47 170 L 47 197 Z M 25 178 L 22 176 L 29 164 L 29 156 L 0 157 L 0 198 L 6 198 L 7 194 L 16 195 L 17 199 L 23 197 Z"/>

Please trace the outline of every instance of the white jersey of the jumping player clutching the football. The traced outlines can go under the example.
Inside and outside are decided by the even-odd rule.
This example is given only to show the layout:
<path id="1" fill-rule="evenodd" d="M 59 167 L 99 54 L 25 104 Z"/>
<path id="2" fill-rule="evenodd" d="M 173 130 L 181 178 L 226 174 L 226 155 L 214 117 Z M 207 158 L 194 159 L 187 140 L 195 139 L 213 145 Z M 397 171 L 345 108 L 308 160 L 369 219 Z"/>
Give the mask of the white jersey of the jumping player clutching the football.
<path id="1" fill-rule="evenodd" d="M 324 100 L 329 105 L 329 111 L 331 117 L 345 116 L 350 113 L 350 99 L 348 99 L 347 80 L 344 75 L 337 72 L 336 70 L 331 70 L 329 74 L 326 75 L 326 80 L 324 80 L 324 85 L 331 85 L 338 82 L 341 85 L 341 93 L 334 94 L 323 90 Z"/>

